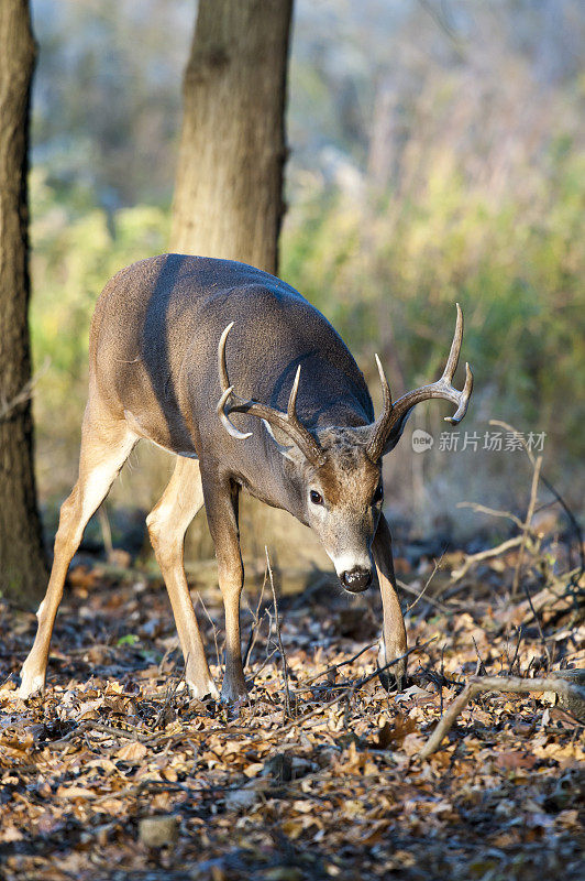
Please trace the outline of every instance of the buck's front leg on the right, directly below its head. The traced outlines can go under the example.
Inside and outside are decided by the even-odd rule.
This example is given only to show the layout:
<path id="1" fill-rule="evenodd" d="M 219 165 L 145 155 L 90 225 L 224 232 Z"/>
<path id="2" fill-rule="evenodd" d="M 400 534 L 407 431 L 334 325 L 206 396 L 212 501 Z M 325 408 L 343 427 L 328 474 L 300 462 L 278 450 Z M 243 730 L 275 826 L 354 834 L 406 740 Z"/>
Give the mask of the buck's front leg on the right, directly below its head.
<path id="1" fill-rule="evenodd" d="M 374 554 L 374 562 L 378 573 L 384 609 L 382 642 L 378 654 L 378 663 L 384 666 L 393 657 L 400 657 L 407 650 L 405 619 L 400 609 L 398 594 L 396 592 L 391 535 L 384 514 L 380 515 L 374 542 L 372 543 L 372 553 Z M 394 676 L 399 689 L 406 676 L 406 660 L 390 667 L 388 676 L 390 678 Z"/>

